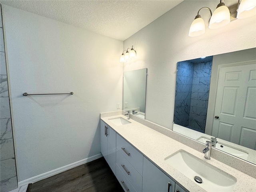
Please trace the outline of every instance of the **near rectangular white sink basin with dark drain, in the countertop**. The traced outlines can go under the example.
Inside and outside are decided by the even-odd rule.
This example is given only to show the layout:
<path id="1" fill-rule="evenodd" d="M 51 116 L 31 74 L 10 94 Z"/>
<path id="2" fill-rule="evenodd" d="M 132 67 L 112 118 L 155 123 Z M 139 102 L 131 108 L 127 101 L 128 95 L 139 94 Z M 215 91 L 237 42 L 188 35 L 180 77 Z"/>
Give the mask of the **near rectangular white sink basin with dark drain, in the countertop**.
<path id="1" fill-rule="evenodd" d="M 183 150 L 172 154 L 164 160 L 209 192 L 231 192 L 237 181 L 230 174 Z M 195 176 L 200 177 L 202 183 L 196 182 Z"/>

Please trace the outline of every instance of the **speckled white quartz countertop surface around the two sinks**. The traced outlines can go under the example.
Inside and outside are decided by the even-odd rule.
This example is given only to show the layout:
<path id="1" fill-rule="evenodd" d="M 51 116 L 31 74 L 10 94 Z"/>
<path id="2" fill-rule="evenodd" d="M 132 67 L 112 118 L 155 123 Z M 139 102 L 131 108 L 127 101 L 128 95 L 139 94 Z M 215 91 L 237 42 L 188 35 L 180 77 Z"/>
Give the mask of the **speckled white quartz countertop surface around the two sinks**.
<path id="1" fill-rule="evenodd" d="M 190 180 L 184 174 L 173 168 L 164 159 L 178 150 L 184 150 L 203 161 L 223 170 L 224 172 L 234 176 L 237 182 L 234 186 L 234 192 L 256 192 L 256 179 L 244 174 L 226 164 L 211 158 L 206 160 L 204 154 L 190 148 L 164 134 L 161 134 L 147 126 L 144 126 L 132 119 L 129 119 L 130 124 L 116 126 L 109 119 L 122 117 L 127 119 L 127 116 L 117 115 L 102 117 L 101 119 L 115 130 L 120 136 L 127 140 L 132 146 L 140 151 L 144 156 L 151 160 L 158 168 L 173 178 L 175 182 L 182 185 L 190 192 L 205 192 L 195 181 Z M 203 150 L 203 149 L 202 149 Z"/>

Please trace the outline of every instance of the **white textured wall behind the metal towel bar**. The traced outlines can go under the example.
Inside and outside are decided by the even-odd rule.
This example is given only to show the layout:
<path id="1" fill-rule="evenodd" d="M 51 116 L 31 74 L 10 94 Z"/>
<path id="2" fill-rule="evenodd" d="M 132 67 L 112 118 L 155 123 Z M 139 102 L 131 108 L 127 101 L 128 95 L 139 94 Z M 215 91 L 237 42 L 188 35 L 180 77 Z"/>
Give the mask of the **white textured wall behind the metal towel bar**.
<path id="1" fill-rule="evenodd" d="M 123 42 L 9 6 L 3 14 L 18 181 L 100 154 L 100 112 L 122 105 Z"/>

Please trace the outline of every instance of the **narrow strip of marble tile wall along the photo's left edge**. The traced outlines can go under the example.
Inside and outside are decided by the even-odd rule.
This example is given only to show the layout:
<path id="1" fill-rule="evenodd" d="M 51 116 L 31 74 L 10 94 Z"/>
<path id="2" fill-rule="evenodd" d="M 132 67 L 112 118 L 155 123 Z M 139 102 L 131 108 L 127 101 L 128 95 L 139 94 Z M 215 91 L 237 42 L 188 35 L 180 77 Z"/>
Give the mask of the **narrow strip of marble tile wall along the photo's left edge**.
<path id="1" fill-rule="evenodd" d="M 8 192 L 16 189 L 18 183 L 6 72 L 2 11 L 0 15 L 0 191 Z"/>

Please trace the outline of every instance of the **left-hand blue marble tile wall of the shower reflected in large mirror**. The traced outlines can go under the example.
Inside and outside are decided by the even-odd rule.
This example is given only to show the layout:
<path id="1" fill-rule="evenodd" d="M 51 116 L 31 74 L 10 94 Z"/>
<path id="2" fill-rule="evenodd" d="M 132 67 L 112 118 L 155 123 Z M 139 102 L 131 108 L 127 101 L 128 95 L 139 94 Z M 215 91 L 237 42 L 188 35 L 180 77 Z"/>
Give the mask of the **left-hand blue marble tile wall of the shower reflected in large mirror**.
<path id="1" fill-rule="evenodd" d="M 174 122 L 188 126 L 194 64 L 188 61 L 178 62 L 177 70 Z"/>

